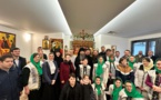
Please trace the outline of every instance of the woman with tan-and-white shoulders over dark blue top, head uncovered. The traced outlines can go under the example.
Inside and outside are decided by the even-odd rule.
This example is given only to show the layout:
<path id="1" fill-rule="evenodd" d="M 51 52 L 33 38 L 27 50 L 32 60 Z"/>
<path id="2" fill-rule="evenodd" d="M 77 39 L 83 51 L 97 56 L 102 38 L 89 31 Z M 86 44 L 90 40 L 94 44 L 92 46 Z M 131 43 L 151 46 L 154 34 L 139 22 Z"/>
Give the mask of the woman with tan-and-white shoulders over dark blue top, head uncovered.
<path id="1" fill-rule="evenodd" d="M 119 60 L 119 66 L 117 67 L 115 77 L 120 77 L 123 83 L 127 80 L 131 80 L 132 82 L 134 81 L 134 72 L 128 66 L 125 58 L 121 58 Z"/>

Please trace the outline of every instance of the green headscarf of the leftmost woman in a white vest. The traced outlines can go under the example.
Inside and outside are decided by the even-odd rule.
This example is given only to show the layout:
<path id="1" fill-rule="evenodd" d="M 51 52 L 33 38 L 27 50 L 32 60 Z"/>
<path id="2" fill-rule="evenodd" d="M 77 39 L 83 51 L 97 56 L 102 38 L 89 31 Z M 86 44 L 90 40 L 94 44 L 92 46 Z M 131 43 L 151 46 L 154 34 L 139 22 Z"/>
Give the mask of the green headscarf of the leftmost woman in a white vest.
<path id="1" fill-rule="evenodd" d="M 39 61 L 39 62 L 36 62 L 36 61 L 33 60 L 34 57 L 37 57 L 37 56 L 38 56 L 38 53 L 33 53 L 33 54 L 30 57 L 30 62 L 37 68 L 39 76 L 41 76 L 41 74 L 42 74 L 42 68 L 41 68 L 41 66 L 40 66 L 40 61 Z"/>

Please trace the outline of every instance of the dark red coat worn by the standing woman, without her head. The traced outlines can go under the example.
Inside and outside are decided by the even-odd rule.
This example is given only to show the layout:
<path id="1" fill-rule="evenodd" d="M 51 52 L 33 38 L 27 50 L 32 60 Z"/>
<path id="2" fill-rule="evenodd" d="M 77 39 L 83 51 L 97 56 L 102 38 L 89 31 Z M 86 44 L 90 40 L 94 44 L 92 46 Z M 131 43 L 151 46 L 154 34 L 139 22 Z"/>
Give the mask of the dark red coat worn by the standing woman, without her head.
<path id="1" fill-rule="evenodd" d="M 67 82 L 69 79 L 69 74 L 74 73 L 74 72 L 76 71 L 74 71 L 72 62 L 71 61 L 70 62 L 63 61 L 60 64 L 60 81 Z"/>

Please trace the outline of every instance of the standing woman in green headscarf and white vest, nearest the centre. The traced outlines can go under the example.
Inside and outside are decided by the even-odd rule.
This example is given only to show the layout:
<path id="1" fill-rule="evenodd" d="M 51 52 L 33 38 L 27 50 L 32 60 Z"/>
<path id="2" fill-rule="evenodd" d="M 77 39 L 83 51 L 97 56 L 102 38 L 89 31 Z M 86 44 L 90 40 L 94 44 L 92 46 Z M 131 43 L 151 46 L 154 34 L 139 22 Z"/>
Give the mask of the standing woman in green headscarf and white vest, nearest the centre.
<path id="1" fill-rule="evenodd" d="M 104 63 L 103 57 L 99 57 L 98 63 L 95 63 L 93 68 L 93 76 L 92 76 L 93 80 L 98 76 L 102 79 L 102 83 L 107 86 L 107 81 L 109 78 L 109 69 Z"/>

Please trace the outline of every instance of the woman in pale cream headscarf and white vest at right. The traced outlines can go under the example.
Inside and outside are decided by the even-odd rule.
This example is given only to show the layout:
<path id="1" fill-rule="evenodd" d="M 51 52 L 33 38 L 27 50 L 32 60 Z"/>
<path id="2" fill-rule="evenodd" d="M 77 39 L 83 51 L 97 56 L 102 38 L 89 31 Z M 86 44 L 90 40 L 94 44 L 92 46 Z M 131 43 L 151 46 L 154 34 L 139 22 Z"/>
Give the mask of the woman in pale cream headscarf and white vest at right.
<path id="1" fill-rule="evenodd" d="M 144 99 L 151 99 L 150 88 L 145 84 L 145 79 L 148 76 L 148 71 L 154 70 L 153 61 L 149 58 L 143 58 L 140 68 L 135 71 L 134 84 L 138 90 L 142 93 Z"/>

